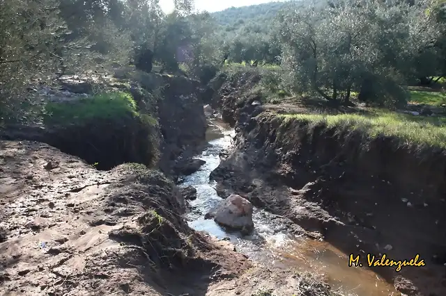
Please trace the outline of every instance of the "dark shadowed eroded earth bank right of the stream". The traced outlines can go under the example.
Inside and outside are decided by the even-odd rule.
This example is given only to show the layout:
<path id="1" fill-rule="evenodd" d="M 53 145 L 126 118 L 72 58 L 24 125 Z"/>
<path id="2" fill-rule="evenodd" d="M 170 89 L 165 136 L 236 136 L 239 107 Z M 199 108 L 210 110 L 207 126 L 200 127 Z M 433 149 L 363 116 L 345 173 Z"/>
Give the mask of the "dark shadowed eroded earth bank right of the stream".
<path id="1" fill-rule="evenodd" d="M 256 79 L 239 76 L 214 98 L 238 132 L 236 149 L 211 174 L 219 194 L 289 217 L 346 254 L 362 255 L 364 266 L 367 253 L 394 260 L 420 254 L 424 267 L 374 270 L 402 293 L 445 295 L 445 151 L 280 117 L 246 95 Z"/>

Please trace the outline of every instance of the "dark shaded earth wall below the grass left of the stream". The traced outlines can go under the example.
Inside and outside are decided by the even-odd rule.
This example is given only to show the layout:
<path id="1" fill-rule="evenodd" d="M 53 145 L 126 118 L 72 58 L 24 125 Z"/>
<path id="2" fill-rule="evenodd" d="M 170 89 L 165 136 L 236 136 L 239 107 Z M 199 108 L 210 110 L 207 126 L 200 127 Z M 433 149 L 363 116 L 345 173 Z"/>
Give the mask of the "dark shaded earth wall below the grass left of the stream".
<path id="1" fill-rule="evenodd" d="M 65 90 L 45 91 L 43 99 L 68 106 L 88 100 L 86 96 L 91 94 L 91 88 L 71 86 L 66 90 L 67 85 L 70 84 L 65 81 Z M 183 162 L 203 144 L 206 117 L 198 81 L 181 76 L 141 74 L 137 79 L 114 79 L 101 88 L 130 92 L 138 115 L 100 116 L 82 122 L 55 122 L 49 115 L 48 122 L 40 125 L 1 127 L 0 138 L 45 142 L 96 164 L 100 170 L 122 163 L 142 163 L 160 167 L 168 175 L 178 174 Z M 177 163 L 178 156 L 184 157 Z"/>

